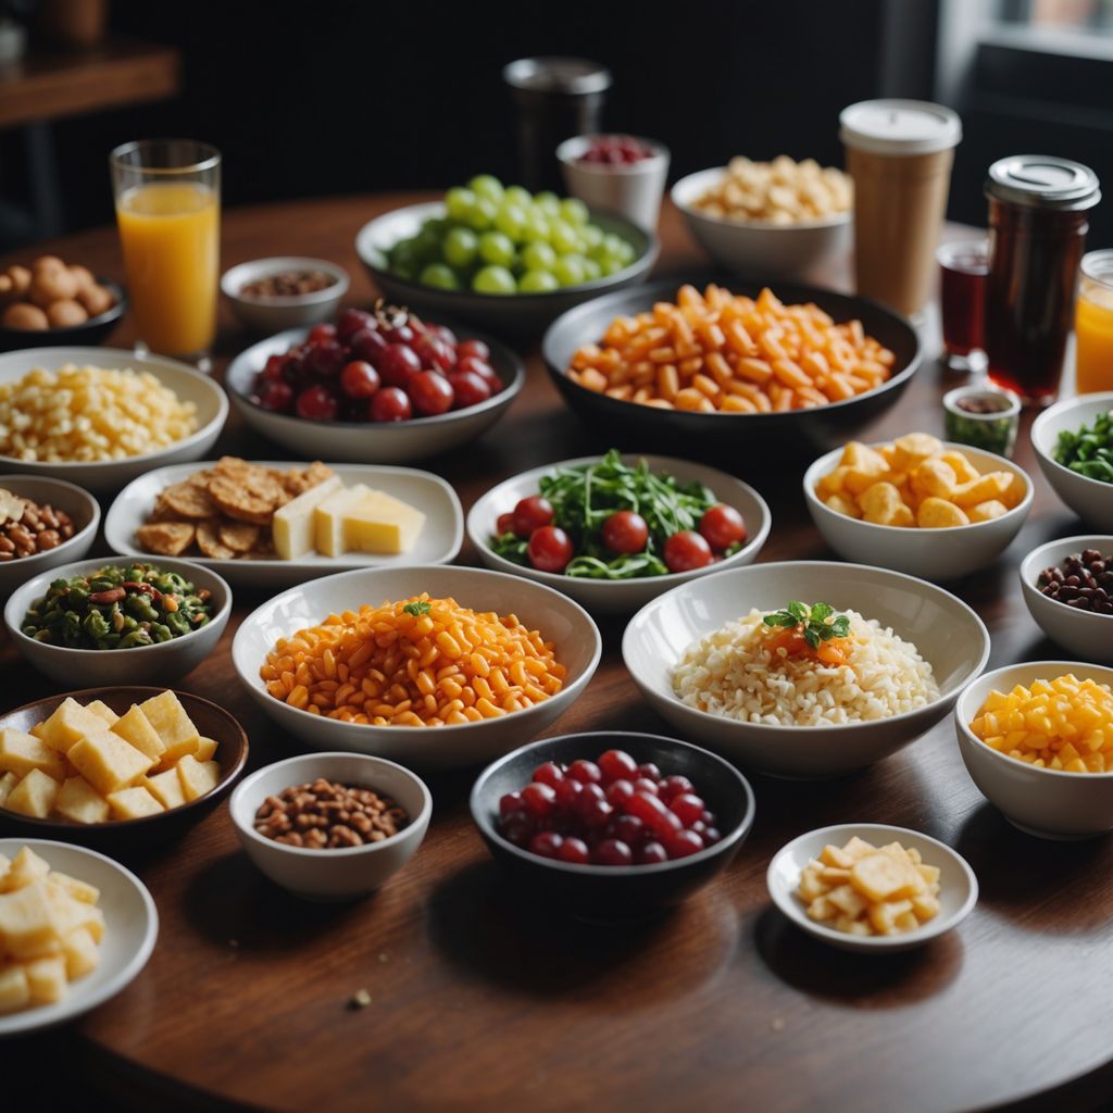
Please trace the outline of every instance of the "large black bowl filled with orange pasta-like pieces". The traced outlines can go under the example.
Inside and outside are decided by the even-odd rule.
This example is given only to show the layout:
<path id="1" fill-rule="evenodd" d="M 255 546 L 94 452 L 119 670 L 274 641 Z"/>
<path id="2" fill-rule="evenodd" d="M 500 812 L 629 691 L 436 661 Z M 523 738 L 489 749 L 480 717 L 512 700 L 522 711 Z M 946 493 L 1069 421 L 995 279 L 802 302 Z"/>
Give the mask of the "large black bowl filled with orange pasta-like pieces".
<path id="1" fill-rule="evenodd" d="M 915 328 L 868 298 L 789 283 L 676 280 L 559 317 L 542 344 L 564 401 L 611 440 L 682 440 L 733 457 L 829 449 L 893 405 Z"/>

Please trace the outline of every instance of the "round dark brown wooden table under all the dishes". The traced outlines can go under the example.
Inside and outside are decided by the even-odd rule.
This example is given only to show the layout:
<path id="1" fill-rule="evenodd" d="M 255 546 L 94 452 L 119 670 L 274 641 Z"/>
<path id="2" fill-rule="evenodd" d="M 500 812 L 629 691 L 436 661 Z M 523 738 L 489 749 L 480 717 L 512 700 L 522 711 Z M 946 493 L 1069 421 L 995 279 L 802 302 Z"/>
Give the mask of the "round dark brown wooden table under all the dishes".
<path id="1" fill-rule="evenodd" d="M 414 199 L 230 211 L 225 264 L 325 256 L 348 268 L 349 299 L 366 303 L 355 229 Z M 662 236 L 662 267 L 699 259 L 673 210 L 663 215 Z M 120 272 L 111 230 L 50 247 L 99 274 Z M 846 275 L 828 278 L 845 284 Z M 245 343 L 228 325 L 225 354 Z M 126 325 L 116 338 L 129 339 Z M 946 385 L 929 359 L 870 435 L 940 433 Z M 235 420 L 218 447 L 274 455 Z M 500 479 L 600 447 L 560 404 L 534 348 L 510 415 L 477 444 L 427 466 L 455 483 L 466 509 Z M 683 454 L 681 445 L 668 449 Z M 1077 523 L 1040 479 L 1025 434 L 1017 461 L 1037 487 L 1028 523 L 994 568 L 954 585 L 991 627 L 991 668 L 1062 656 L 1028 618 L 1016 567 Z M 774 513 L 762 560 L 830 555 L 807 519 L 797 469 L 750 477 Z M 474 563 L 474 553 L 462 560 Z M 181 686 L 240 718 L 253 765 L 296 750 L 253 708 L 230 668 L 235 628 L 260 601 L 237 594 L 219 649 Z M 552 733 L 669 732 L 623 670 L 621 629 L 604 624 L 602 664 Z M 51 690 L 10 647 L 0 663 L 4 708 Z M 351 906 L 305 904 L 270 886 L 239 853 L 226 807 L 168 851 L 137 848 L 129 861 L 158 903 L 159 943 L 130 988 L 80 1025 L 75 1048 L 135 1093 L 189 1107 L 204 1094 L 214 1103 L 329 1111 L 510 1102 L 530 1110 L 935 1111 L 1022 1099 L 1025 1107 L 1062 1109 L 1070 1100 L 1078 1109 L 1110 1092 L 1113 841 L 1021 835 L 971 782 L 949 719 L 840 780 L 754 777 L 757 824 L 730 870 L 673 915 L 634 929 L 568 923 L 524 903 L 471 824 L 471 778 L 433 782 L 435 814 L 421 851 L 377 896 Z M 765 870 L 774 851 L 801 831 L 853 820 L 915 827 L 967 857 L 982 897 L 958 932 L 919 952 L 856 957 L 804 936 L 772 909 Z M 347 1003 L 359 988 L 373 1002 L 353 1011 Z"/>

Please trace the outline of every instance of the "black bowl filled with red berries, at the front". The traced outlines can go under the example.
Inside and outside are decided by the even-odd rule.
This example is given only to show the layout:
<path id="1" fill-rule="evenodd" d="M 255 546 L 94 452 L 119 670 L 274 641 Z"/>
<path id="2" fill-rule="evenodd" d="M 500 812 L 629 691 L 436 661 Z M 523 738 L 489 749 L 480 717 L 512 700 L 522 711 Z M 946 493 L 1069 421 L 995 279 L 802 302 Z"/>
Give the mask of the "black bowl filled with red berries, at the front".
<path id="1" fill-rule="evenodd" d="M 754 791 L 728 761 L 674 738 L 546 738 L 480 774 L 471 795 L 494 858 L 583 919 L 643 919 L 725 869 L 754 826 Z"/>

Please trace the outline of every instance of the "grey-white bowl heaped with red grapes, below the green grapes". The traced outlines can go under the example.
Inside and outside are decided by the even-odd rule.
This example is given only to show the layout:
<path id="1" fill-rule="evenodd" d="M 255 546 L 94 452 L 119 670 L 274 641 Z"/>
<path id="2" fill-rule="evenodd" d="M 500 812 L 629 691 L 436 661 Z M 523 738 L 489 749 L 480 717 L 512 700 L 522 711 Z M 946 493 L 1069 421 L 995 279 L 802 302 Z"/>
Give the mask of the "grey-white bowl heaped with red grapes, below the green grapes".
<path id="1" fill-rule="evenodd" d="M 496 341 L 380 303 L 242 352 L 225 386 L 244 420 L 308 459 L 405 463 L 493 425 L 525 382 Z"/>

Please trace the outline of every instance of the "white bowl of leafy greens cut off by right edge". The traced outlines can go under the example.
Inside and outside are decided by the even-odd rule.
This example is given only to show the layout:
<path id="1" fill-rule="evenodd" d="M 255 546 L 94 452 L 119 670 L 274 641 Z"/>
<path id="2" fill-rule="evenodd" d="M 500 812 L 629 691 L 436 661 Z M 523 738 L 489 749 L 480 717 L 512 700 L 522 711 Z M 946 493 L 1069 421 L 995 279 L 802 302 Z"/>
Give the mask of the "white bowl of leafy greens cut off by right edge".
<path id="1" fill-rule="evenodd" d="M 1032 444 L 1055 494 L 1113 533 L 1113 391 L 1056 402 L 1032 423 Z"/>

